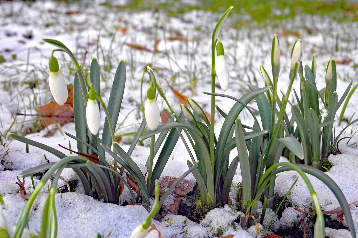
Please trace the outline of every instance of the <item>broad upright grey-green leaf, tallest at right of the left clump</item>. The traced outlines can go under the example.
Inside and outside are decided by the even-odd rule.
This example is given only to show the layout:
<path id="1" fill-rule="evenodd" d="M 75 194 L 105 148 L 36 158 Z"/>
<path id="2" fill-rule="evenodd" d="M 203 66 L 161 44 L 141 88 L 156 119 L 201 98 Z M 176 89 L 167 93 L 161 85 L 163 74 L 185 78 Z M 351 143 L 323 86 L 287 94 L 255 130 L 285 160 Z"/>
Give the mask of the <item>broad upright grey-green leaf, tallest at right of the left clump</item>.
<path id="1" fill-rule="evenodd" d="M 126 86 L 126 65 L 124 60 L 121 60 L 118 64 L 116 74 L 114 76 L 110 98 L 108 100 L 108 106 L 107 106 L 107 110 L 110 114 L 114 129 L 116 128 L 119 112 L 121 110 L 125 86 Z M 112 144 L 111 132 L 110 132 L 110 127 L 108 125 L 107 118 L 105 120 L 105 125 L 103 127 L 102 143 L 107 147 L 111 147 Z M 98 150 L 102 153 L 102 155 L 104 155 L 103 149 L 98 148 Z"/>

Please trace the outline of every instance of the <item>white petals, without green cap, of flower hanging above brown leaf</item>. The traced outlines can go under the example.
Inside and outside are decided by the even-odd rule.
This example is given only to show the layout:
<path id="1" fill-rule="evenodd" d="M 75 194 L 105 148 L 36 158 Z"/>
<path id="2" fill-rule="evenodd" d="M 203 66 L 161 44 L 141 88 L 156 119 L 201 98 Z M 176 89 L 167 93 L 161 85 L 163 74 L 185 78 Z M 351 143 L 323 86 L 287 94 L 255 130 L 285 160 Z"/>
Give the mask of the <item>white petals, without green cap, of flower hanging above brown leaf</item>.
<path id="1" fill-rule="evenodd" d="M 61 71 L 58 72 L 50 72 L 50 76 L 48 79 L 48 84 L 50 86 L 50 91 L 52 93 L 53 98 L 58 103 L 58 105 L 62 106 L 65 104 L 68 98 L 67 85 L 64 80 L 64 77 Z"/>

